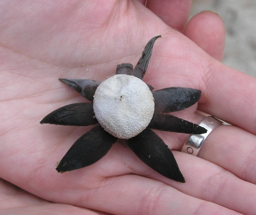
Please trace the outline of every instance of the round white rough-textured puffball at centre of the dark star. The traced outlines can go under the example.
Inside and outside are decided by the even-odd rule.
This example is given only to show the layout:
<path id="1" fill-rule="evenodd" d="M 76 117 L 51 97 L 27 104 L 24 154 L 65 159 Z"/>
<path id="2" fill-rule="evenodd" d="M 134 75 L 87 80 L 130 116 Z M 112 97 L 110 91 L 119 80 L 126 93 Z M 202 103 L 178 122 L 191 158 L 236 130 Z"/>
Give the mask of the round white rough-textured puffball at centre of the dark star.
<path id="1" fill-rule="evenodd" d="M 95 91 L 93 109 L 100 125 L 117 138 L 142 132 L 154 114 L 154 97 L 148 86 L 133 75 L 114 75 Z"/>

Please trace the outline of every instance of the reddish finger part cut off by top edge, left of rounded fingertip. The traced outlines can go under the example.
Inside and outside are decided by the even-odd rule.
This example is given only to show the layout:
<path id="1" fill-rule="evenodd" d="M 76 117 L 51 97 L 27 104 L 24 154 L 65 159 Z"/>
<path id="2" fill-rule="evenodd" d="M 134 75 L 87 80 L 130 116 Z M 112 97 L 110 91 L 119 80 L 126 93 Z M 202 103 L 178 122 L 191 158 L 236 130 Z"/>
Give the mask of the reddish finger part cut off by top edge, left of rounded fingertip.
<path id="1" fill-rule="evenodd" d="M 191 1 L 148 0 L 147 7 L 168 26 L 182 32 L 187 24 Z"/>

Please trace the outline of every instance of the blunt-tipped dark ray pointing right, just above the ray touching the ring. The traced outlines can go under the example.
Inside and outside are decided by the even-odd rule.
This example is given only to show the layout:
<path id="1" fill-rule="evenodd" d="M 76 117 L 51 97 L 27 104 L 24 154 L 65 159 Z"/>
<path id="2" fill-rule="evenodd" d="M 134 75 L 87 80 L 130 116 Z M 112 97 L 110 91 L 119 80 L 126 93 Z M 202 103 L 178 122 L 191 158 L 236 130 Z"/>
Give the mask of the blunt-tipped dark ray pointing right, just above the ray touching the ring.
<path id="1" fill-rule="evenodd" d="M 152 92 L 156 112 L 169 113 L 184 110 L 194 105 L 201 96 L 201 91 L 192 88 L 169 87 Z"/>

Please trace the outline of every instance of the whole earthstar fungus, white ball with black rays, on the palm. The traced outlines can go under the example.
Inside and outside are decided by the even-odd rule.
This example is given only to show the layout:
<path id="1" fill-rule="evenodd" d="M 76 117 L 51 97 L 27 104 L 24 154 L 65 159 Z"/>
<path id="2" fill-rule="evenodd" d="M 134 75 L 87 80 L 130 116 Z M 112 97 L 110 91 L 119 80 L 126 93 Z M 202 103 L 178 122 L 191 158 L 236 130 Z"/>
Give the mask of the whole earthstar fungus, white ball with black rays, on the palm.
<path id="1" fill-rule="evenodd" d="M 116 75 L 100 83 L 88 79 L 59 79 L 91 102 L 75 103 L 54 110 L 40 123 L 96 125 L 70 147 L 59 162 L 60 173 L 80 169 L 100 160 L 118 138 L 127 139 L 130 149 L 161 175 L 185 182 L 169 147 L 152 130 L 203 134 L 206 129 L 175 117 L 170 112 L 194 105 L 201 91 L 192 88 L 154 88 L 142 80 L 157 38 L 145 47 L 139 62 L 117 65 Z"/>

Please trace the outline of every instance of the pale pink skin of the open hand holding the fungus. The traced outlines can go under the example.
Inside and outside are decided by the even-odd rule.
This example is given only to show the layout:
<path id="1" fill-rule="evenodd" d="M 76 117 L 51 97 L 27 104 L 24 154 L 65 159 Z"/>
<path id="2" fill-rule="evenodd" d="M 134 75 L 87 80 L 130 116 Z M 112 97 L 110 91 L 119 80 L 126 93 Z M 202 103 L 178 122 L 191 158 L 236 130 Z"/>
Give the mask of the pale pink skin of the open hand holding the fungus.
<path id="1" fill-rule="evenodd" d="M 221 18 L 202 12 L 188 22 L 187 0 L 67 2 L 0 2 L 0 213 L 255 213 L 256 79 L 221 63 Z M 85 101 L 58 78 L 103 81 L 117 64 L 135 66 L 156 35 L 143 81 L 200 89 L 198 106 L 176 116 L 199 123 L 198 109 L 232 125 L 211 132 L 198 157 L 180 152 L 187 134 L 157 132 L 186 183 L 156 173 L 121 141 L 95 164 L 58 173 L 55 163 L 91 128 L 39 124 Z"/>

